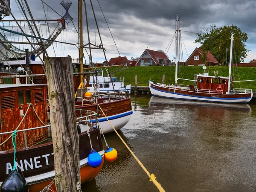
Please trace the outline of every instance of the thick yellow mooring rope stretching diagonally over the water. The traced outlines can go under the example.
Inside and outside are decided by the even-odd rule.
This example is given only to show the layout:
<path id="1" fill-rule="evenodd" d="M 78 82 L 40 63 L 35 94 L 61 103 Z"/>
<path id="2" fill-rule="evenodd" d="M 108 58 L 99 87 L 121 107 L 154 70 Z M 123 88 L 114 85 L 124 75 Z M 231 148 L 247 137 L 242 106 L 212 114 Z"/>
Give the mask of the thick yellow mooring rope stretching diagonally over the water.
<path id="1" fill-rule="evenodd" d="M 99 106 L 99 103 L 98 103 Z M 102 108 L 99 106 L 100 110 L 102 111 Z M 107 118 L 108 117 L 105 115 L 105 113 L 102 111 L 102 113 L 104 114 L 104 116 Z M 138 157 L 136 157 L 136 155 L 131 151 L 131 149 L 128 147 L 128 145 L 125 143 L 125 141 L 122 139 L 122 137 L 117 133 L 116 129 L 113 127 L 113 125 L 111 124 L 111 122 L 108 120 L 109 124 L 111 125 L 111 127 L 113 128 L 113 130 L 116 132 L 116 134 L 118 135 L 118 137 L 120 138 L 120 140 L 122 140 L 122 143 L 124 143 L 125 147 L 128 148 L 128 150 L 131 152 L 132 156 L 134 156 L 134 158 L 137 160 L 137 162 L 140 164 L 140 166 L 142 167 L 142 169 L 146 172 L 146 174 L 148 175 L 148 178 L 150 181 L 152 181 L 154 183 L 154 185 L 157 187 L 157 189 L 159 189 L 160 192 L 165 192 L 165 190 L 163 189 L 163 187 L 160 185 L 160 183 L 157 182 L 156 177 L 154 176 L 154 174 L 150 174 L 148 172 L 148 170 L 145 168 L 145 166 L 143 166 L 143 164 L 140 162 L 140 160 L 138 159 Z"/>

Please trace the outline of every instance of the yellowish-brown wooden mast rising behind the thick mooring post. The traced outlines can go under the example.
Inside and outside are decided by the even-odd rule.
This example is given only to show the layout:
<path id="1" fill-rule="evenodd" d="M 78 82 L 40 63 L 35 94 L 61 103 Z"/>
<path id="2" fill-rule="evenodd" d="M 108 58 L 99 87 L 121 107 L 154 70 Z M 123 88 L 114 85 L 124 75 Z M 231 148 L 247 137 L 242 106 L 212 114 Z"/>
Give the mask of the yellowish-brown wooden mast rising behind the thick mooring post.
<path id="1" fill-rule="evenodd" d="M 83 9 L 82 9 L 82 0 L 79 0 L 79 13 L 78 13 L 78 27 L 79 27 L 79 60 L 80 60 L 80 73 L 83 73 L 83 68 L 84 68 L 84 64 L 83 64 Z M 84 84 L 83 84 L 83 77 L 84 75 L 80 75 L 80 84 L 81 84 L 81 88 L 85 88 Z M 85 85 L 86 86 L 86 85 Z"/>

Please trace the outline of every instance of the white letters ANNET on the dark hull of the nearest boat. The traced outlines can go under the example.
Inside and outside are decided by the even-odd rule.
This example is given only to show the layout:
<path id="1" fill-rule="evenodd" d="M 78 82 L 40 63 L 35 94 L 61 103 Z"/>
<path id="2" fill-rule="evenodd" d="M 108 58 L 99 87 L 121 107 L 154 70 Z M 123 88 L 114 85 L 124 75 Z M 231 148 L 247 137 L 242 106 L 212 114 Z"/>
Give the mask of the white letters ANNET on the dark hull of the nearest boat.
<path id="1" fill-rule="evenodd" d="M 41 161 L 42 161 L 42 163 L 45 163 L 48 166 L 49 165 L 48 157 L 50 155 L 53 155 L 53 153 L 42 155 L 42 157 L 41 156 L 33 157 L 33 158 L 30 158 L 29 161 L 20 160 L 19 164 L 16 162 L 16 169 L 18 167 L 22 172 L 24 171 L 24 168 L 25 168 L 25 171 L 27 171 L 29 168 L 30 169 L 37 169 L 37 168 L 42 167 Z M 44 161 L 44 159 L 40 160 L 42 158 L 44 158 L 45 161 Z M 9 171 L 12 171 L 12 164 L 11 163 L 6 163 L 6 174 L 7 175 L 9 175 Z"/>

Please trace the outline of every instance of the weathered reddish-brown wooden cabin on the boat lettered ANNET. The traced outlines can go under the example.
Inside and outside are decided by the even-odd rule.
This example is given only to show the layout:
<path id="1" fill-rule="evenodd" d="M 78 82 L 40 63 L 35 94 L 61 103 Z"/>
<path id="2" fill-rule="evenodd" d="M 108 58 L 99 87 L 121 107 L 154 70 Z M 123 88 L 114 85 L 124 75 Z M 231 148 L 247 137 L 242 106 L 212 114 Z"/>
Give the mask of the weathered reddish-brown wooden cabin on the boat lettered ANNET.
<path id="1" fill-rule="evenodd" d="M 0 84 L 0 133 L 14 131 L 32 104 L 44 124 L 47 124 L 47 85 Z M 30 105 L 19 130 L 43 126 Z M 0 136 L 0 143 L 11 134 Z M 27 145 L 32 146 L 47 138 L 47 128 L 26 131 Z M 25 146 L 23 132 L 17 133 L 16 148 Z M 12 140 L 0 146 L 0 151 L 12 149 Z"/>

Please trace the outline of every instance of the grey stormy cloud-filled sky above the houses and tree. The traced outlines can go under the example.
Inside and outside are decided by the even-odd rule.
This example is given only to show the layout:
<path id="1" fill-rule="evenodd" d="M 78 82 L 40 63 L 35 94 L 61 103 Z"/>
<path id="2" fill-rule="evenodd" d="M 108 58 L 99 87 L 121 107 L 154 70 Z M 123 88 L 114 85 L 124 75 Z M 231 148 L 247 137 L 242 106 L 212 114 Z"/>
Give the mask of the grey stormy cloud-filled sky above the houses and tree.
<path id="1" fill-rule="evenodd" d="M 44 1 L 47 2 L 47 0 Z M 101 34 L 105 40 L 104 43 L 108 46 L 109 52 L 114 52 L 115 48 L 113 43 L 111 44 L 111 40 L 108 39 L 111 36 L 99 4 L 97 0 L 92 1 Z M 64 15 L 65 11 L 60 2 L 60 0 L 48 0 L 47 3 L 60 15 Z M 70 7 L 69 13 L 74 18 L 73 21 L 77 27 L 78 1 L 72 2 L 73 5 Z M 45 18 L 40 0 L 30 0 L 29 3 L 34 17 Z M 86 0 L 86 3 L 90 33 L 95 34 L 96 25 L 91 12 L 90 1 Z M 255 0 L 99 0 L 99 3 L 116 43 L 121 46 L 123 53 L 132 52 L 129 48 L 125 49 L 125 47 L 131 47 L 130 43 L 134 44 L 134 49 L 136 49 L 135 46 L 140 46 L 137 50 L 140 53 L 138 52 L 137 55 L 140 55 L 147 46 L 164 49 L 163 47 L 168 44 L 175 31 L 177 12 L 180 16 L 181 30 L 201 32 L 211 23 L 217 27 L 234 24 L 241 28 L 242 32 L 248 34 L 248 47 L 252 47 L 252 44 L 256 43 Z M 49 18 L 59 18 L 49 8 L 47 15 Z M 86 33 L 85 17 L 83 18 L 84 33 Z M 73 24 L 69 23 L 70 30 L 72 27 Z M 195 41 L 195 35 L 192 33 L 185 33 L 183 37 L 191 42 Z"/>

